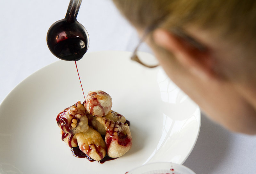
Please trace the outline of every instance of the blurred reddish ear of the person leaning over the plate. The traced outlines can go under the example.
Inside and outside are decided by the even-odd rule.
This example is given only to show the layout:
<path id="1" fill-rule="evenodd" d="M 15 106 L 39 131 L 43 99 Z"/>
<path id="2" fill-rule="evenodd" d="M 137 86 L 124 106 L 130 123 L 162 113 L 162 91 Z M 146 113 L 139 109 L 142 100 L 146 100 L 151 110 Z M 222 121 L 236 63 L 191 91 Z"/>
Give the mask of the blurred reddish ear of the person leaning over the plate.
<path id="1" fill-rule="evenodd" d="M 214 58 L 207 49 L 198 49 L 186 38 L 179 37 L 164 29 L 156 29 L 153 33 L 156 44 L 171 52 L 174 57 L 191 73 L 200 77 L 214 75 Z"/>

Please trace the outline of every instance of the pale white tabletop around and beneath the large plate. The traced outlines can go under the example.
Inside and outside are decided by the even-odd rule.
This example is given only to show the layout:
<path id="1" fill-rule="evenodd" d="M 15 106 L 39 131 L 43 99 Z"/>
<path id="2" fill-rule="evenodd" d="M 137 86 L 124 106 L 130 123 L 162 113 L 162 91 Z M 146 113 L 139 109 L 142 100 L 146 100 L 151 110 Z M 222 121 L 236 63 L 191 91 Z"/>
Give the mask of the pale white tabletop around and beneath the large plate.
<path id="1" fill-rule="evenodd" d="M 0 102 L 27 76 L 59 60 L 46 45 L 46 33 L 52 23 L 65 17 L 68 3 L 1 1 Z M 136 31 L 110 0 L 84 0 L 77 20 L 90 35 L 88 52 L 132 51 L 138 43 Z M 141 50 L 150 52 L 146 46 Z M 197 174 L 256 173 L 255 147 L 256 136 L 228 132 L 203 114 L 198 140 L 183 165 Z"/>

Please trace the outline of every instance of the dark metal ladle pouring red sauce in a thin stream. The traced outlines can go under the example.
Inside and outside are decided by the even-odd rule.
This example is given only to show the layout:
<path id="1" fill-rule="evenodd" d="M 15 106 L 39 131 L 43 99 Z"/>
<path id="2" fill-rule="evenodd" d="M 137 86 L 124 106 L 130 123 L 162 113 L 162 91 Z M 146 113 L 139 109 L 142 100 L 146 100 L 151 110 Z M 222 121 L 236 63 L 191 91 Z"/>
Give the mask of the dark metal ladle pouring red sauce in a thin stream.
<path id="1" fill-rule="evenodd" d="M 52 24 L 47 33 L 47 45 L 56 57 L 78 61 L 89 47 L 89 35 L 77 20 L 82 0 L 70 0 L 66 17 Z"/>

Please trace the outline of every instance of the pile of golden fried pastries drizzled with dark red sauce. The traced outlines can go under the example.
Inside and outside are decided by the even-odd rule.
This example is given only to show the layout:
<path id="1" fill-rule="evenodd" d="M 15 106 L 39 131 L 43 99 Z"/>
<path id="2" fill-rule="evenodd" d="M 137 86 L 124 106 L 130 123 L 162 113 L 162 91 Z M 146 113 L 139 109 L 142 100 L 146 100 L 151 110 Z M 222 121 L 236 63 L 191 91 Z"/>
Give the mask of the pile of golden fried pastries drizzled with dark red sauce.
<path id="1" fill-rule="evenodd" d="M 111 110 L 112 98 L 104 91 L 90 91 L 85 100 L 58 114 L 62 140 L 96 161 L 124 155 L 132 147 L 132 135 L 125 117 Z"/>

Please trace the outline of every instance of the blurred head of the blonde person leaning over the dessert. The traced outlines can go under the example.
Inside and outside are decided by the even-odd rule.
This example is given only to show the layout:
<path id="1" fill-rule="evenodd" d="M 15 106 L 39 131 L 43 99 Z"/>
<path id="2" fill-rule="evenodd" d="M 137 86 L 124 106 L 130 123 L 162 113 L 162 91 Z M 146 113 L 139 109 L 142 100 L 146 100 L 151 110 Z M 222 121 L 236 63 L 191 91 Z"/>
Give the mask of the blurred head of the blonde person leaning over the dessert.
<path id="1" fill-rule="evenodd" d="M 140 34 L 155 25 L 147 43 L 160 65 L 212 120 L 256 134 L 254 0 L 113 1 Z"/>

